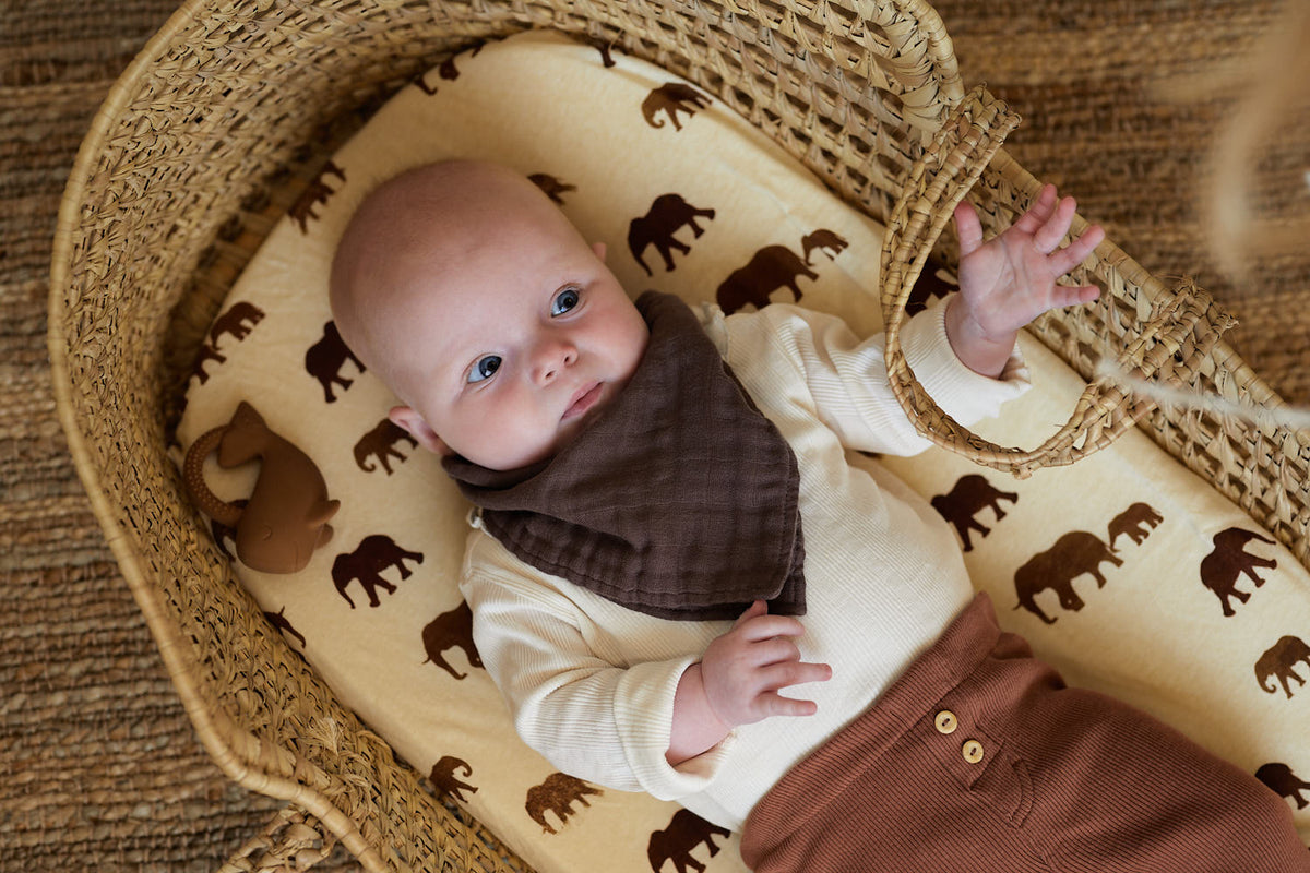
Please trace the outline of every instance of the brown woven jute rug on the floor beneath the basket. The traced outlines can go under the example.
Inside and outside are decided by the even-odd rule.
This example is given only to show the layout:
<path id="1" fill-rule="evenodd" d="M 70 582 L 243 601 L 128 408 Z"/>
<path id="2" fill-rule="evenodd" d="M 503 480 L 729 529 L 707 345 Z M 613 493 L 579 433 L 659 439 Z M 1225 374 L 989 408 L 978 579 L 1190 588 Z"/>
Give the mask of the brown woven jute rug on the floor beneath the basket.
<path id="1" fill-rule="evenodd" d="M 73 472 L 48 387 L 55 213 L 110 85 L 176 0 L 0 0 L 0 870 L 212 870 L 279 806 L 200 750 Z M 1010 148 L 1148 268 L 1191 274 L 1233 344 L 1310 403 L 1310 254 L 1242 287 L 1207 257 L 1196 168 L 1242 89 L 1171 102 L 1275 20 L 1265 0 L 942 0 L 965 85 L 1024 116 Z M 1255 88 L 1258 84 L 1246 85 Z M 1222 89 L 1218 89 L 1222 90 Z M 1259 203 L 1310 205 L 1307 126 L 1260 157 Z M 352 869 L 342 855 L 320 869 Z"/>

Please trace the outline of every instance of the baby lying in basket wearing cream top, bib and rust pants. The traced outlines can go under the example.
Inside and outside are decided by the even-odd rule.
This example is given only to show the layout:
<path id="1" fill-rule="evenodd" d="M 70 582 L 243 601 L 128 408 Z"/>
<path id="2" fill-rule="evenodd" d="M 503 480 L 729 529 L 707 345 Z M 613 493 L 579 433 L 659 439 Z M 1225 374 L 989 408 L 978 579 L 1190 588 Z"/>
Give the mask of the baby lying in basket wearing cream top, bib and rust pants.
<path id="1" fill-rule="evenodd" d="M 960 291 L 901 342 L 958 420 L 1026 389 L 1019 329 L 1095 298 L 1056 283 L 1103 238 L 1060 247 L 1074 208 L 1048 186 L 986 242 L 956 209 Z M 926 501 L 848 462 L 929 445 L 880 336 L 796 306 L 634 305 L 603 245 L 476 161 L 364 200 L 331 306 L 478 507 L 477 647 L 561 770 L 741 828 L 757 870 L 1310 870 L 1281 798 L 1064 687 Z"/>

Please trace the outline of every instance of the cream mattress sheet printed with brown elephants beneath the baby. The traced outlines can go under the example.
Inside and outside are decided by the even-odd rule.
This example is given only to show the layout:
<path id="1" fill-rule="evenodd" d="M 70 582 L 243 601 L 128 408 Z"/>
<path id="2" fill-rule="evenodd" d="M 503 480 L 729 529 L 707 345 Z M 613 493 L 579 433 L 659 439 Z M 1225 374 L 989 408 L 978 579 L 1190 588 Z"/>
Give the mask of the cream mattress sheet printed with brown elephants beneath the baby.
<path id="1" fill-rule="evenodd" d="M 303 188 L 287 196 L 286 217 L 208 331 L 198 326 L 177 428 L 181 467 L 186 446 L 227 423 L 238 402 L 252 402 L 341 500 L 333 538 L 286 576 L 253 571 L 234 550 L 225 555 L 236 529 L 217 521 L 208 525 L 212 543 L 202 542 L 211 539 L 202 529 L 187 547 L 198 560 L 231 561 L 267 633 L 297 656 L 290 661 L 322 677 L 443 802 L 531 852 L 534 869 L 744 873 L 736 835 L 676 804 L 557 774 L 517 739 L 458 589 L 469 507 L 439 459 L 392 424 L 396 398 L 342 342 L 326 302 L 333 246 L 372 186 L 424 161 L 477 154 L 523 171 L 588 242 L 604 243 L 633 296 L 655 288 L 743 315 L 799 304 L 869 336 L 882 329 L 882 228 L 781 156 L 769 134 L 745 126 L 711 93 L 718 84 L 681 81 L 618 43 L 579 46 L 534 30 L 461 52 L 411 82 L 362 110 L 373 115 L 346 145 L 296 170 Z M 252 195 L 248 208 L 282 202 Z M 248 230 L 231 223 L 220 237 L 233 242 Z M 955 287 L 951 264 L 934 255 L 907 312 Z M 1032 397 L 1056 378 L 1041 369 L 1043 352 L 1024 352 Z M 1015 441 L 1049 436 L 1061 412 L 1060 403 L 1038 408 L 1036 438 Z M 1009 406 L 1002 416 L 1011 416 Z M 1297 588 L 1300 563 L 1222 499 L 1195 486 L 1162 496 L 1157 472 L 1174 465 L 1150 457 L 1133 476 L 1096 472 L 1093 458 L 1026 480 L 937 449 L 857 462 L 893 472 L 929 501 L 1002 624 L 1039 654 L 1062 654 L 1061 666 L 1090 664 L 1079 677 L 1086 685 L 1095 686 L 1102 658 L 1140 649 L 1127 632 L 1145 627 L 1162 652 L 1186 652 L 1186 668 L 1154 688 L 1128 665 L 1106 690 L 1187 688 L 1225 715 L 1175 724 L 1184 732 L 1267 717 L 1296 725 L 1265 732 L 1290 737 L 1281 745 L 1258 745 L 1250 730 L 1216 745 L 1239 750 L 1250 772 L 1259 768 L 1310 838 L 1310 607 L 1298 611 L 1296 599 L 1310 599 L 1310 582 Z M 219 470 L 214 491 L 240 508 L 254 475 Z M 1231 635 L 1214 648 L 1233 664 L 1196 666 L 1210 654 L 1192 644 L 1203 627 L 1207 639 Z M 1167 664 L 1162 657 L 1157 669 Z M 1216 677 L 1229 666 L 1233 679 L 1221 685 Z M 1213 686 L 1209 696 L 1203 681 Z M 1149 709 L 1153 699 L 1132 702 Z M 1169 700 L 1159 712 L 1196 715 L 1188 705 Z M 330 738 L 331 719 L 320 729 Z"/>

